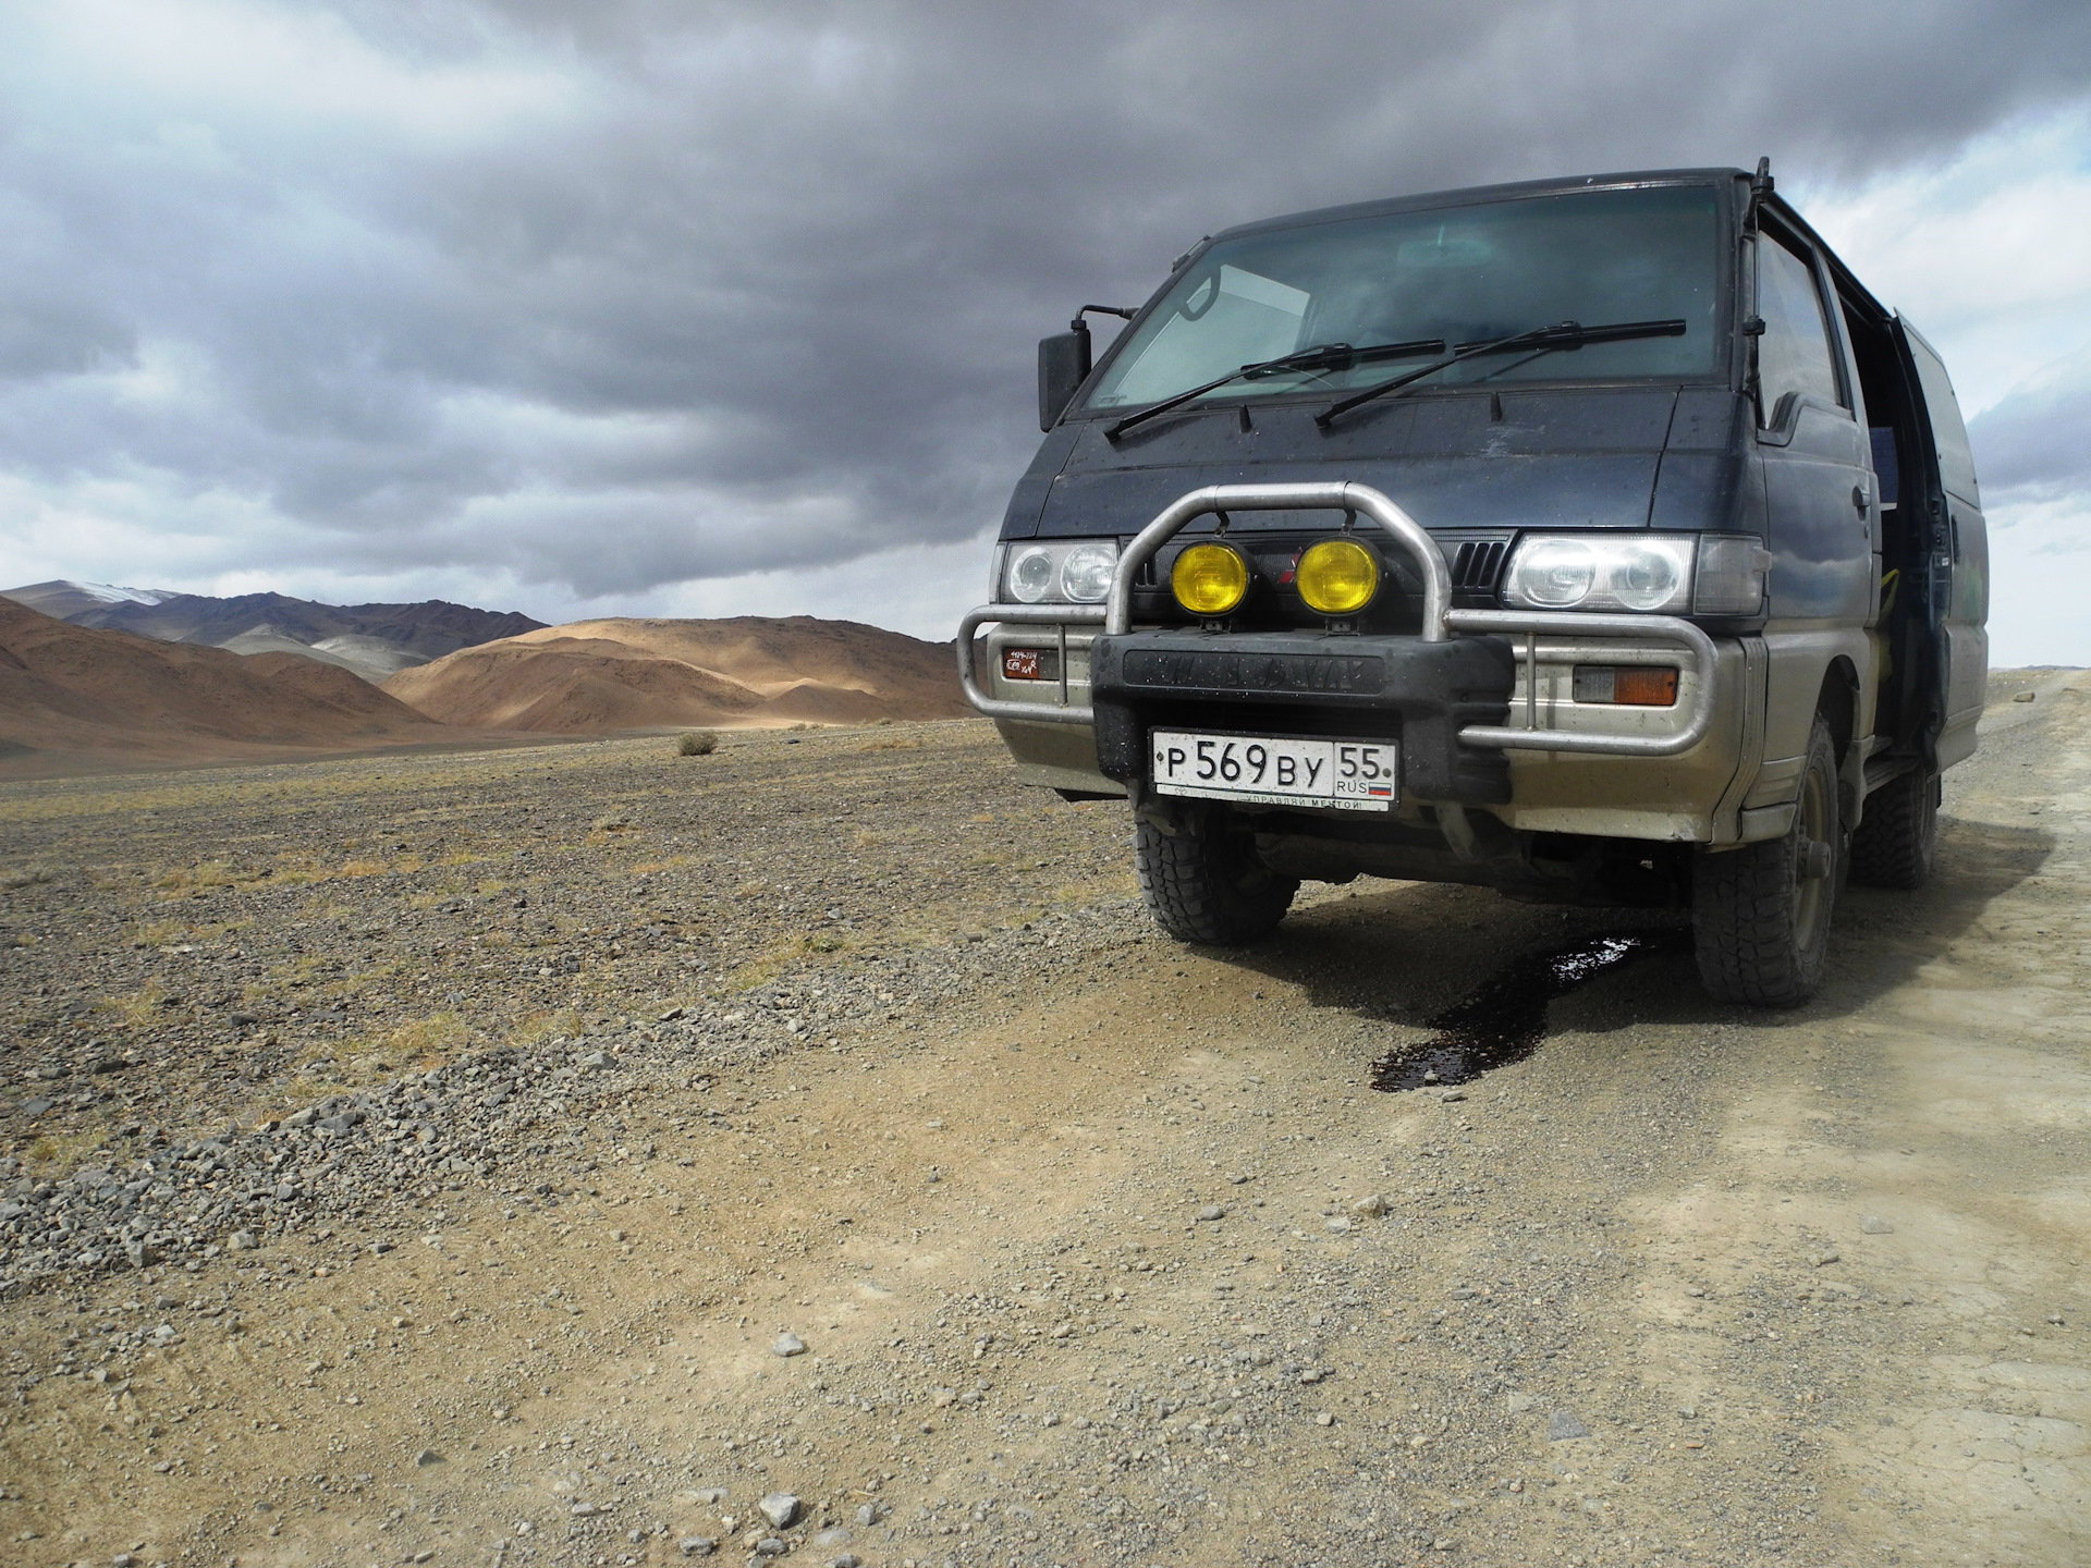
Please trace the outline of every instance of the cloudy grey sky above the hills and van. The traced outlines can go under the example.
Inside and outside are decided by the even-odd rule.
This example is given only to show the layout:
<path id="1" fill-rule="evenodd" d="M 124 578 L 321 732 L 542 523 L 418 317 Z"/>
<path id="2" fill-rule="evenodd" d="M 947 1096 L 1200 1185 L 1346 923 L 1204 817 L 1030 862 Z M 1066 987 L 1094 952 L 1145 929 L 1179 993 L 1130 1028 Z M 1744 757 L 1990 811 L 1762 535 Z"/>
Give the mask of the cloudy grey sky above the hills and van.
<path id="1" fill-rule="evenodd" d="M 2091 663 L 2091 6 L 0 4 L 0 577 L 945 638 L 1221 226 L 1769 153 Z"/>

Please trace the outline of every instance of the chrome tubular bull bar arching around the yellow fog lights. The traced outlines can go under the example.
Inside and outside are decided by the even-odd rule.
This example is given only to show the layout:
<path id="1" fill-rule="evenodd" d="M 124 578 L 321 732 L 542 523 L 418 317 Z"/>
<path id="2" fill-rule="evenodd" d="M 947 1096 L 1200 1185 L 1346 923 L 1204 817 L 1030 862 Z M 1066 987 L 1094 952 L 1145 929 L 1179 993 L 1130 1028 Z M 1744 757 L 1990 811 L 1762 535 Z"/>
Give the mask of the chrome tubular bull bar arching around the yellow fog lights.
<path id="1" fill-rule="evenodd" d="M 1069 625 L 1102 625 L 1106 636 L 1123 636 L 1133 621 L 1133 581 L 1186 523 L 1230 510 L 1342 510 L 1372 518 L 1424 579 L 1424 642 L 1445 642 L 1453 633 L 1510 636 L 1522 640 L 1518 661 L 1524 667 L 1524 723 L 1470 723 L 1460 730 L 1468 746 L 1499 746 L 1514 751 L 1566 751 L 1604 757 L 1677 757 L 1706 738 L 1715 713 L 1715 675 L 1719 650 L 1713 638 L 1675 615 L 1583 615 L 1579 610 L 1455 610 L 1451 608 L 1451 573 L 1437 539 L 1386 493 L 1351 481 L 1307 485 L 1204 485 L 1163 508 L 1119 556 L 1110 594 L 1102 604 L 981 604 L 958 623 L 958 679 L 974 711 L 991 719 L 1022 719 L 1029 723 L 1094 723 L 1096 709 L 1069 700 L 1066 631 Z M 1060 631 L 1060 700 L 1006 702 L 981 690 L 972 671 L 972 638 L 983 625 L 1056 625 Z M 1631 638 L 1679 648 L 1692 663 L 1692 717 L 1683 730 L 1667 736 L 1608 736 L 1589 730 L 1539 728 L 1539 636 L 1566 638 Z M 1516 646 L 1516 644 L 1514 644 Z"/>

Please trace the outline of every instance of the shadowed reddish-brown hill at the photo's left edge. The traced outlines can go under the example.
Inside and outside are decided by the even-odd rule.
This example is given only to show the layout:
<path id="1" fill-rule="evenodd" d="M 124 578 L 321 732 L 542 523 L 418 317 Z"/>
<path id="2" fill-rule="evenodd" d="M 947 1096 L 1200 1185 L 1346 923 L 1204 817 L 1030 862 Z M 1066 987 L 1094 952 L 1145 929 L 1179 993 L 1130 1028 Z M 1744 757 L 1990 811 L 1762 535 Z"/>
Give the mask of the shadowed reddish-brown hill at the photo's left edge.
<path id="1" fill-rule="evenodd" d="M 13 776 L 263 759 L 447 734 L 335 665 L 153 642 L 0 600 L 0 771 Z"/>

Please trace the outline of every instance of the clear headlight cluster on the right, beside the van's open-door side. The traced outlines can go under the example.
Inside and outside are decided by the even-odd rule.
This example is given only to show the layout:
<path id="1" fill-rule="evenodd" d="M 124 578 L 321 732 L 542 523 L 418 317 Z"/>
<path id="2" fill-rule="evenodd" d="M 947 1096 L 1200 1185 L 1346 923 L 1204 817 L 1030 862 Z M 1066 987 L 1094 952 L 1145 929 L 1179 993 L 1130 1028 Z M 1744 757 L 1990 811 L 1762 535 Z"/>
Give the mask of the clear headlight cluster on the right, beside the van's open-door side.
<path id="1" fill-rule="evenodd" d="M 1750 535 L 1529 533 L 1503 571 L 1520 610 L 1754 615 L 1769 556 Z"/>

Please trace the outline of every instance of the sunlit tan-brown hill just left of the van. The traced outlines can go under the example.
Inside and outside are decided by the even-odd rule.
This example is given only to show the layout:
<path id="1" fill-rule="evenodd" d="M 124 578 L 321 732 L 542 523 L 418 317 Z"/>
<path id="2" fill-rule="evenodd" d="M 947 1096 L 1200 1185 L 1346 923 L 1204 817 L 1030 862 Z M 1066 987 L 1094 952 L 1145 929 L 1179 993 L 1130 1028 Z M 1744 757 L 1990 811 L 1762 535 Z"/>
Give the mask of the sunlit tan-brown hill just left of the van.
<path id="1" fill-rule="evenodd" d="M 385 690 L 443 723 L 537 734 L 970 713 L 949 644 L 807 615 L 575 621 L 404 669 Z"/>

